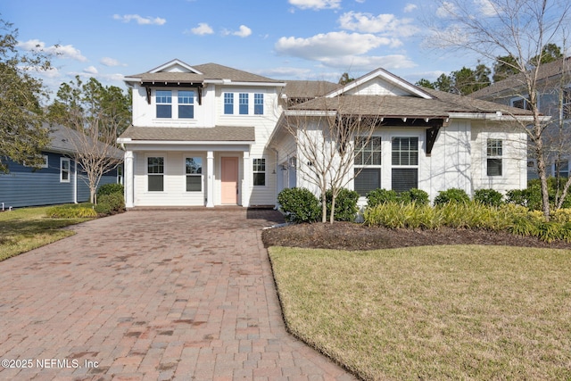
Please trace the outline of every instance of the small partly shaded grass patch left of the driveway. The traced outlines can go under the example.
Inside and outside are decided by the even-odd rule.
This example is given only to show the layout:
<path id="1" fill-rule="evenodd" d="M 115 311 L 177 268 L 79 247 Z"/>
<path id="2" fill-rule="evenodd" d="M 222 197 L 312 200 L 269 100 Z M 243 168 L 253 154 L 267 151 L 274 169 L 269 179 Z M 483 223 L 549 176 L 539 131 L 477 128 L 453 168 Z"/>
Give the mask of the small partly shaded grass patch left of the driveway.
<path id="1" fill-rule="evenodd" d="M 50 207 L 0 212 L 0 261 L 75 234 L 62 228 L 89 219 L 48 219 Z"/>

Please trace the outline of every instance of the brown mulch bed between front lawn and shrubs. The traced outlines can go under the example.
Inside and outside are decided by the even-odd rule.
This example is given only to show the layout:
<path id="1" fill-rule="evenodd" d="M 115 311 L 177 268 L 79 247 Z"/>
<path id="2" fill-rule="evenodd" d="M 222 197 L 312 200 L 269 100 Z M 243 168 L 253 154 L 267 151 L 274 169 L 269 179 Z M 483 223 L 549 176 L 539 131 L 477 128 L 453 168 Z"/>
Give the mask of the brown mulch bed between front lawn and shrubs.
<path id="1" fill-rule="evenodd" d="M 532 236 L 508 232 L 441 228 L 411 230 L 368 228 L 351 222 L 313 223 L 269 228 L 262 232 L 266 247 L 291 246 L 341 250 L 374 250 L 437 244 L 496 244 L 571 250 L 564 241 L 542 242 Z"/>

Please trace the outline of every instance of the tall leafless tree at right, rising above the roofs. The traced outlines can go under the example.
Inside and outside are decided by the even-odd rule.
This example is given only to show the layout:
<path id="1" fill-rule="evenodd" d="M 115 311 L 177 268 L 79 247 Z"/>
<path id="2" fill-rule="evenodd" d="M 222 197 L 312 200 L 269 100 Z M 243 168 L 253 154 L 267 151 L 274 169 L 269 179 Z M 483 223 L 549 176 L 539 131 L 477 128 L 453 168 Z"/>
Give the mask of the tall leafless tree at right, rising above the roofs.
<path id="1" fill-rule="evenodd" d="M 542 211 L 550 216 L 546 154 L 543 137 L 547 128 L 539 110 L 538 86 L 543 49 L 564 40 L 571 4 L 567 0 L 434 0 L 438 17 L 426 21 L 433 46 L 472 51 L 490 62 L 499 62 L 520 72 L 519 84 L 527 108 L 533 113 L 531 125 L 520 123 L 531 143 L 541 181 Z M 477 16 L 476 16 L 477 15 Z"/>

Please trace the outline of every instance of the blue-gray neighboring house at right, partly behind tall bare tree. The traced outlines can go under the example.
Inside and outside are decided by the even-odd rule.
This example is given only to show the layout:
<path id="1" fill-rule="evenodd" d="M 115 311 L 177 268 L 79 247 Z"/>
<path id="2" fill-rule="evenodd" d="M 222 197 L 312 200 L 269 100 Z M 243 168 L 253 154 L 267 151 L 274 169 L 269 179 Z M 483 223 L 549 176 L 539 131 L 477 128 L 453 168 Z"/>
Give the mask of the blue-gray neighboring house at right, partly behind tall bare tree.
<path id="1" fill-rule="evenodd" d="M 559 172 L 560 176 L 567 178 L 571 158 L 571 134 L 567 131 L 571 122 L 571 58 L 542 64 L 537 79 L 539 111 L 551 117 L 550 125 L 544 135 L 544 143 L 548 146 L 547 175 L 556 176 Z M 520 109 L 530 109 L 524 74 L 513 75 L 495 82 L 469 96 Z M 537 178 L 533 155 L 530 154 L 528 159 L 527 177 Z"/>

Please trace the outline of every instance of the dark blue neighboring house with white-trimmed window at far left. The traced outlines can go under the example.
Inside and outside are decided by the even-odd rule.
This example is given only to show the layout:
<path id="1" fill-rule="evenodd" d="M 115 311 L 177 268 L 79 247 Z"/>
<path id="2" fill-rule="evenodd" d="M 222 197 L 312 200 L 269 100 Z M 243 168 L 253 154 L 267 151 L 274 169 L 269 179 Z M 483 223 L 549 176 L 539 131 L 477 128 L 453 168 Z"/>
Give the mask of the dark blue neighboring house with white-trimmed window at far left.
<path id="1" fill-rule="evenodd" d="M 0 174 L 0 210 L 25 206 L 89 201 L 87 178 L 73 160 L 73 133 L 63 126 L 49 127 L 51 142 L 42 151 L 44 165 L 35 169 L 8 162 L 9 173 Z M 118 158 L 123 153 L 116 150 Z M 103 175 L 99 185 L 122 183 L 122 166 Z"/>

